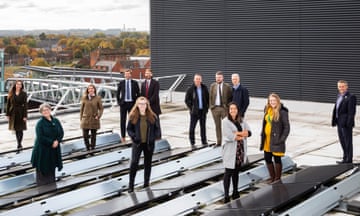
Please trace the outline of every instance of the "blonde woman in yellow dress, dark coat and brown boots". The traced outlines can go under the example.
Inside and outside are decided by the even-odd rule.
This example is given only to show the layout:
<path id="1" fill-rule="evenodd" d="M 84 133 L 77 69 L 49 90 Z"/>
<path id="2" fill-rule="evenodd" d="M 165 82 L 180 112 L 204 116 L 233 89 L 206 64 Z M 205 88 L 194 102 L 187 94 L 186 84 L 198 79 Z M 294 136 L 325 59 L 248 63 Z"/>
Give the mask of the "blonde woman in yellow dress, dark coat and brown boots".
<path id="1" fill-rule="evenodd" d="M 288 109 L 280 103 L 279 95 L 271 93 L 265 106 L 260 146 L 260 150 L 264 151 L 264 159 L 270 175 L 269 183 L 281 178 L 281 157 L 285 155 L 285 142 L 290 133 L 288 112 Z"/>

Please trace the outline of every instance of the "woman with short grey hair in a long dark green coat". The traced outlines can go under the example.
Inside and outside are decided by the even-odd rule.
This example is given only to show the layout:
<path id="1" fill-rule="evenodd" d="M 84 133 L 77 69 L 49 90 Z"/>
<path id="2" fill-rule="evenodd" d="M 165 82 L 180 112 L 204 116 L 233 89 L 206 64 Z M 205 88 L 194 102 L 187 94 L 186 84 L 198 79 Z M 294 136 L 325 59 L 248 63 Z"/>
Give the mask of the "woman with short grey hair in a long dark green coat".
<path id="1" fill-rule="evenodd" d="M 40 113 L 42 117 L 35 127 L 36 138 L 31 155 L 38 186 L 55 182 L 56 167 L 61 171 L 63 164 L 60 143 L 64 136 L 60 121 L 51 115 L 49 104 L 41 104 Z"/>

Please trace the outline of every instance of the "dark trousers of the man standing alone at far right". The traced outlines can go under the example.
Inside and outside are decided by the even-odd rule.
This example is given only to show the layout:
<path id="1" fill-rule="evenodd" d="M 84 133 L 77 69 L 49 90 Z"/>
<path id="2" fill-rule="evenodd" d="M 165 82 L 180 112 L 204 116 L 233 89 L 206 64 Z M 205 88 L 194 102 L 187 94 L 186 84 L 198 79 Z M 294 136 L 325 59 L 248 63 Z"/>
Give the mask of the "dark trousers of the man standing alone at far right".
<path id="1" fill-rule="evenodd" d="M 339 141 L 343 150 L 343 161 L 352 163 L 353 158 L 353 143 L 352 143 L 352 127 L 337 127 Z"/>

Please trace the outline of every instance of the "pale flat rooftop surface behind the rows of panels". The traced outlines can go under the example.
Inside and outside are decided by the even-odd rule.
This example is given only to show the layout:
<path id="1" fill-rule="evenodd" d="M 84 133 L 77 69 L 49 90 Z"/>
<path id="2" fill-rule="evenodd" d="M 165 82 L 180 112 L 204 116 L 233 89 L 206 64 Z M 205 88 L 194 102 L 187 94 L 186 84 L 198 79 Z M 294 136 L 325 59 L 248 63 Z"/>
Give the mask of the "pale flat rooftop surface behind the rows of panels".
<path id="1" fill-rule="evenodd" d="M 184 92 L 173 92 L 172 101 L 162 103 L 163 114 L 160 116 L 163 138 L 172 148 L 189 146 L 188 128 L 190 116 L 184 104 Z M 342 150 L 338 142 L 337 131 L 331 127 L 333 104 L 305 101 L 282 100 L 289 109 L 290 135 L 286 145 L 286 155 L 298 166 L 334 164 L 341 159 Z M 252 136 L 248 138 L 249 154 L 260 153 L 260 130 L 266 98 L 250 98 L 250 105 L 245 121 L 250 125 Z M 101 119 L 100 131 L 113 130 L 120 133 L 119 107 L 105 108 Z M 79 113 L 68 113 L 57 116 L 63 124 L 65 138 L 81 136 Z M 28 130 L 24 131 L 24 147 L 34 143 L 35 124 L 37 119 L 28 120 Z M 215 125 L 211 112 L 207 115 L 207 136 L 209 143 L 214 143 Z M 360 162 L 360 117 L 356 116 L 353 131 L 354 163 Z M 7 124 L 0 124 L 0 152 L 16 148 L 15 134 L 8 130 Z M 199 125 L 195 133 L 198 145 L 200 142 Z M 128 141 L 129 138 L 127 138 Z"/>

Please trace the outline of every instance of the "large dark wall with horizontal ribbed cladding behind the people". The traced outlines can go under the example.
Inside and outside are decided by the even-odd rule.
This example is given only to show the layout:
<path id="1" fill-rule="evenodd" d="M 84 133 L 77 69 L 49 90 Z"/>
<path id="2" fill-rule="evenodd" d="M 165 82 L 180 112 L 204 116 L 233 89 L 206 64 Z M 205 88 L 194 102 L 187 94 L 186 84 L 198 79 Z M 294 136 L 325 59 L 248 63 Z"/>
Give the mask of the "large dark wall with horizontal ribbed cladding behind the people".
<path id="1" fill-rule="evenodd" d="M 222 70 L 229 83 L 240 73 L 253 97 L 334 102 L 345 79 L 360 98 L 360 1 L 151 0 L 150 9 L 154 76 L 188 74 L 177 90 Z"/>

